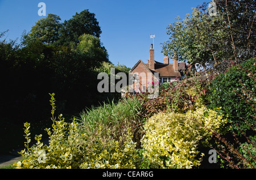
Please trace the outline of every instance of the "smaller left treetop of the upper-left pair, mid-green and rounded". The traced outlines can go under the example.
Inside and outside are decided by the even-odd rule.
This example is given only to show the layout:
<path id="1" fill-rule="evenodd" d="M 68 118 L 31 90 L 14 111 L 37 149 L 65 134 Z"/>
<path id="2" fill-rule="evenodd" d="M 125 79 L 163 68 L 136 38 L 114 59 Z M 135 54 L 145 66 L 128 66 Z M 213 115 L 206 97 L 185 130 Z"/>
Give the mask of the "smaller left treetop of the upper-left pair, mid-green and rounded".
<path id="1" fill-rule="evenodd" d="M 26 45 L 31 41 L 40 41 L 44 44 L 54 44 L 60 35 L 60 20 L 60 17 L 54 14 L 48 14 L 46 18 L 38 20 L 30 33 L 23 35 L 23 43 Z"/>

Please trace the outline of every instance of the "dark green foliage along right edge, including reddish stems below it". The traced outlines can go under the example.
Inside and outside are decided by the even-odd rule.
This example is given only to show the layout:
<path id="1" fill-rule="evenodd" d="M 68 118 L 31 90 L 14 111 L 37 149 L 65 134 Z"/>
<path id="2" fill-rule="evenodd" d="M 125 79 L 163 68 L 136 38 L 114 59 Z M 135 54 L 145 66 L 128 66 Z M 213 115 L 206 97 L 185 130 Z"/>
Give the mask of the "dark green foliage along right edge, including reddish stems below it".
<path id="1" fill-rule="evenodd" d="M 214 135 L 224 159 L 221 162 L 232 168 L 255 168 L 255 72 L 255 58 L 251 58 L 234 64 L 208 84 L 208 107 L 221 106 L 228 117 L 228 135 Z"/>

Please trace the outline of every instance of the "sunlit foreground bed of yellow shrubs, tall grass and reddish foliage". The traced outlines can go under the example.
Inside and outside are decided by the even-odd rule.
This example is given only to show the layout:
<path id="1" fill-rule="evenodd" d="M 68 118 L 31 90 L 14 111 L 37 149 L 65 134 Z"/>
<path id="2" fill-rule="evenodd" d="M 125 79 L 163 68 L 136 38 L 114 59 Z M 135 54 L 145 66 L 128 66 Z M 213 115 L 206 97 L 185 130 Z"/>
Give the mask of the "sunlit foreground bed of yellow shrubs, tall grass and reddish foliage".
<path id="1" fill-rule="evenodd" d="M 179 91 L 175 91 L 177 89 Z M 157 105 L 145 116 L 143 109 L 150 107 L 152 100 L 137 95 L 88 109 L 71 123 L 65 122 L 62 115 L 56 121 L 52 94 L 53 125 L 52 130 L 46 129 L 49 145 L 40 143 L 42 135 L 39 135 L 35 137 L 38 143 L 30 147 L 30 125 L 25 123 L 24 160 L 14 165 L 16 168 L 194 168 L 200 167 L 203 147 L 210 146 L 223 157 L 221 148 L 226 145 L 238 155 L 231 156 L 234 167 L 253 168 L 253 143 L 249 141 L 233 147 L 221 137 L 229 118 L 222 114 L 224 110 L 221 108 L 212 110 L 204 105 L 203 89 L 204 83 L 194 80 L 179 82 L 155 100 L 166 104 L 166 109 Z M 172 106 L 176 103 L 172 98 L 180 92 L 183 93 L 181 101 L 192 100 L 190 106 L 186 103 Z M 224 145 L 220 147 L 214 139 Z M 220 158 L 222 164 L 223 159 L 225 157 Z"/>

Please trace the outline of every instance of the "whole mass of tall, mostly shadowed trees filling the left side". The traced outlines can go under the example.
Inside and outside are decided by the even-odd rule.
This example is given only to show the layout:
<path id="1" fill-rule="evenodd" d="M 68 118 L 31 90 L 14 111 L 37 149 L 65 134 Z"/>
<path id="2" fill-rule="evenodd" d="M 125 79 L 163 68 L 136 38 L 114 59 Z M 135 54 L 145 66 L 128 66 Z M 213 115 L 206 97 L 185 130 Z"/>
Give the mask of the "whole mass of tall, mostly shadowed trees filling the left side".
<path id="1" fill-rule="evenodd" d="M 5 33 L 0 32 L 0 38 Z M 95 14 L 84 10 L 64 23 L 58 15 L 48 14 L 23 34 L 21 44 L 1 40 L 2 114 L 7 118 L 15 111 L 19 115 L 13 117 L 16 121 L 38 115 L 44 118 L 42 109 L 47 109 L 48 93 L 52 92 L 57 95 L 61 113 L 113 98 L 97 91 L 99 70 L 103 71 L 105 63 L 113 65 L 100 33 Z"/>

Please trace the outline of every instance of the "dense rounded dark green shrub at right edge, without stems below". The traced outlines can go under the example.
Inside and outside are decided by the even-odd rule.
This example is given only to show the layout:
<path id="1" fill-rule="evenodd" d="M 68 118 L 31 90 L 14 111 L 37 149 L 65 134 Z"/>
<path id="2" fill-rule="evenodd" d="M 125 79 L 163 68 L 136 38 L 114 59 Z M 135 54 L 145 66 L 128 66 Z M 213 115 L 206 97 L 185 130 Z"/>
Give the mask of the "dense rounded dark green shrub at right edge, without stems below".
<path id="1" fill-rule="evenodd" d="M 245 132 L 249 125 L 255 126 L 256 117 L 256 58 L 232 66 L 224 74 L 217 75 L 208 85 L 209 108 L 222 107 L 229 115 L 232 130 L 238 127 Z M 253 99 L 254 98 L 254 99 Z"/>

